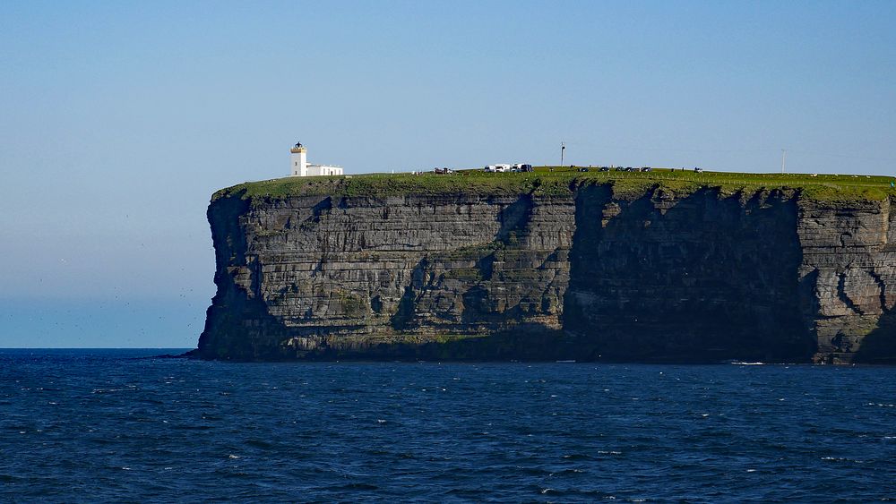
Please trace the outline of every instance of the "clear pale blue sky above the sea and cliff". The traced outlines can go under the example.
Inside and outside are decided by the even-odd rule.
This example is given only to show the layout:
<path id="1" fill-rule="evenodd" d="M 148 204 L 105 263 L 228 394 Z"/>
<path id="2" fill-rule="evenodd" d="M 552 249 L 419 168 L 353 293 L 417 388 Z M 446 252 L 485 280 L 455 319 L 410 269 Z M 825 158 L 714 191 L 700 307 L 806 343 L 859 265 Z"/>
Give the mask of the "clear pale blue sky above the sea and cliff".
<path id="1" fill-rule="evenodd" d="M 896 2 L 5 2 L 0 347 L 195 346 L 211 192 L 496 162 L 896 171 Z"/>

